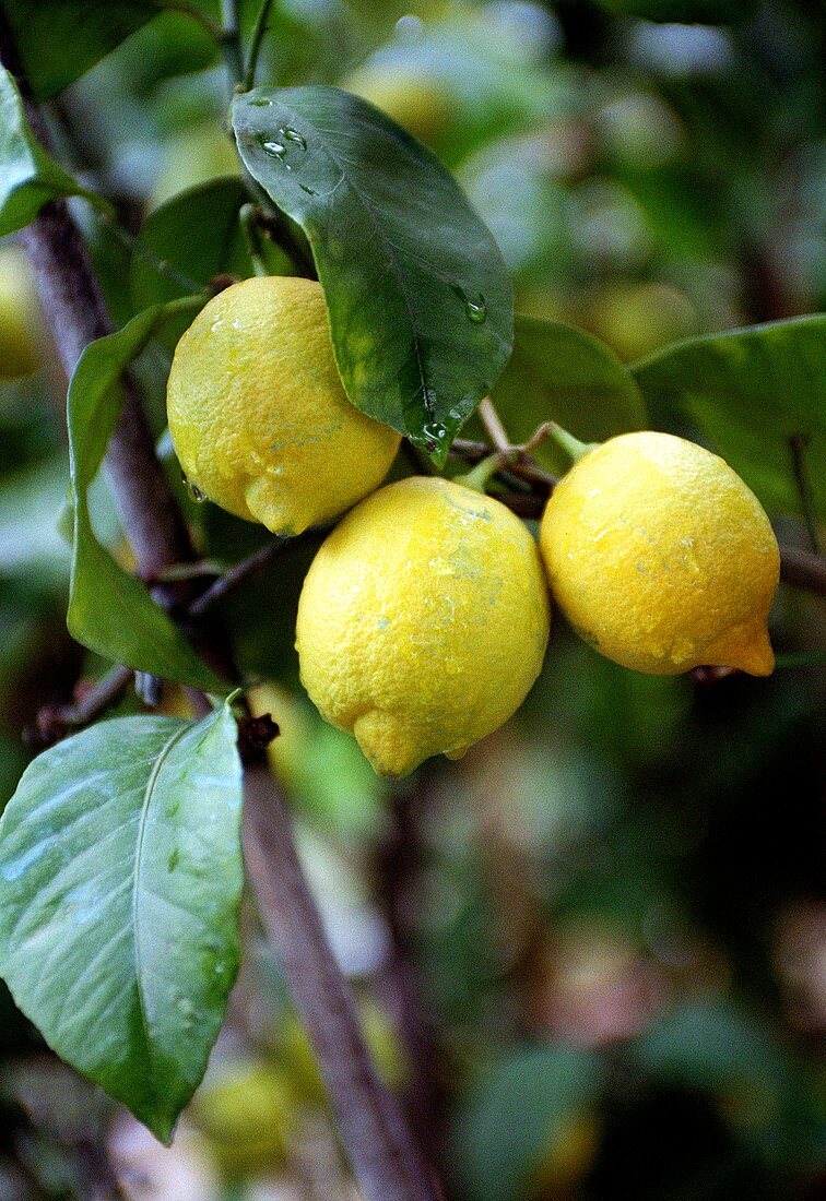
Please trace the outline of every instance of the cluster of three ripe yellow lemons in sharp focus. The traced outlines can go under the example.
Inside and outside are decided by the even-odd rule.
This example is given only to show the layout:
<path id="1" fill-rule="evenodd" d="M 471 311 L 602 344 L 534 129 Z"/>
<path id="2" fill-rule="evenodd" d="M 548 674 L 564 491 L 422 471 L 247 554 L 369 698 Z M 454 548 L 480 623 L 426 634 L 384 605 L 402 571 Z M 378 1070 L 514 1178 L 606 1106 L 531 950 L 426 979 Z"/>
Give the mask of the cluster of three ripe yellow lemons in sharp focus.
<path id="1" fill-rule="evenodd" d="M 296 646 L 310 699 L 380 775 L 459 758 L 519 707 L 545 657 L 548 584 L 624 667 L 773 668 L 778 546 L 721 459 L 655 432 L 589 449 L 554 489 L 539 548 L 462 480 L 379 488 L 399 438 L 347 400 L 313 281 L 252 279 L 210 300 L 178 345 L 168 417 L 188 478 L 231 513 L 297 533 L 350 509 L 308 572 Z"/>

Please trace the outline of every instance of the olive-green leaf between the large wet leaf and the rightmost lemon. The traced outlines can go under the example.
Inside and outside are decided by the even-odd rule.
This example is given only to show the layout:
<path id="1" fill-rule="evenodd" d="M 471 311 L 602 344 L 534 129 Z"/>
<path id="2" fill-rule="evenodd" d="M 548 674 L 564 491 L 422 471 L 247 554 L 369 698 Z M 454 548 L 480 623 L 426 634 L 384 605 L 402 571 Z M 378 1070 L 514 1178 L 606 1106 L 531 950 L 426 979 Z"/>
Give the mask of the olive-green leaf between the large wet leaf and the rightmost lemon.
<path id="1" fill-rule="evenodd" d="M 646 428 L 640 389 L 604 342 L 575 325 L 516 315 L 513 354 L 492 399 L 510 437 L 524 442 L 542 422 L 553 420 L 583 442 Z M 535 458 L 563 472 L 570 460 L 553 442 Z"/>

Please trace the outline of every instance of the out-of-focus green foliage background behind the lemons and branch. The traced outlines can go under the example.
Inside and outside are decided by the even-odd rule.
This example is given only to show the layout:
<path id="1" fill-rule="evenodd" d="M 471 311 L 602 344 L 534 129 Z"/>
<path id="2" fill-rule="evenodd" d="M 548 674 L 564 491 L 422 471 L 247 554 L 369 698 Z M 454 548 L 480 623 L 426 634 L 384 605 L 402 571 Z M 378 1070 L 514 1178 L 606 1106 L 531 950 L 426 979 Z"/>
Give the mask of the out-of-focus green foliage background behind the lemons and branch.
<path id="1" fill-rule="evenodd" d="M 79 26 L 53 31 L 93 60 L 63 90 L 60 55 L 49 65 L 63 161 L 188 275 L 249 274 L 214 44 L 180 12 L 118 7 L 133 32 L 96 65 Z M 256 11 L 242 4 L 248 30 Z M 429 144 L 493 229 L 523 312 L 635 362 L 824 307 L 820 5 L 277 0 L 269 24 L 259 78 L 358 91 Z M 77 215 L 118 322 L 174 292 Z M 289 269 L 274 249 L 272 269 Z M 167 461 L 170 349 L 138 365 Z M 557 416 L 546 372 L 540 419 Z M 64 389 L 22 252 L 0 243 L 0 803 L 36 749 L 38 707 L 105 668 L 65 629 Z M 170 471 L 206 557 L 261 545 Z M 806 544 L 789 512 L 772 516 Z M 127 563 L 103 488 L 95 519 Z M 261 681 L 254 704 L 281 725 L 273 764 L 368 1039 L 448 1197 L 822 1196 L 822 673 L 641 676 L 557 619 L 509 725 L 388 785 L 298 688 L 313 552 L 303 539 L 224 615 Z M 782 655 L 822 649 L 822 602 L 783 588 L 772 634 Z M 174 691 L 162 706 L 186 712 Z M 130 1197 L 357 1196 L 251 902 L 244 922 L 226 1028 L 171 1151 L 52 1059 L 0 986 L 4 1201 L 108 1195 L 113 1170 Z"/>

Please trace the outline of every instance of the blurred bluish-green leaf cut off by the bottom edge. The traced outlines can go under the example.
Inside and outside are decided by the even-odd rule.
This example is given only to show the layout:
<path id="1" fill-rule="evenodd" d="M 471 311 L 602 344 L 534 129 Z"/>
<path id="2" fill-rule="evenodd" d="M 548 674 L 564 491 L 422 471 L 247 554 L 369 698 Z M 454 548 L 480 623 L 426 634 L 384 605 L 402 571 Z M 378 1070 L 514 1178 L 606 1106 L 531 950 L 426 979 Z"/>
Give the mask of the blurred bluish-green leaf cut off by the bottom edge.
<path id="1" fill-rule="evenodd" d="M 600 1059 L 575 1047 L 521 1047 L 499 1059 L 477 1082 L 457 1128 L 463 1195 L 524 1197 L 531 1170 L 588 1115 L 602 1077 Z"/>

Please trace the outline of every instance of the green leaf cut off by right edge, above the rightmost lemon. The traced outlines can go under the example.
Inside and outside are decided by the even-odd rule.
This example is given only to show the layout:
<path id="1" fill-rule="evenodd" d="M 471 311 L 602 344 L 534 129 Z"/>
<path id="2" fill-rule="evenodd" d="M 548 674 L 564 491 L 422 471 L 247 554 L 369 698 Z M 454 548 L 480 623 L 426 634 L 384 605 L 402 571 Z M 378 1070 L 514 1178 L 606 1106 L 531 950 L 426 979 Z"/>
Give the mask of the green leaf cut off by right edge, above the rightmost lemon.
<path id="1" fill-rule="evenodd" d="M 696 431 L 773 512 L 800 513 L 790 440 L 826 514 L 826 316 L 691 337 L 631 368 L 653 424 Z"/>

